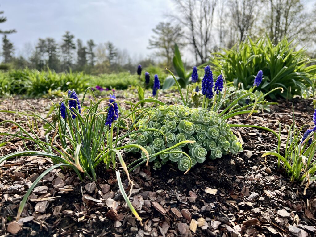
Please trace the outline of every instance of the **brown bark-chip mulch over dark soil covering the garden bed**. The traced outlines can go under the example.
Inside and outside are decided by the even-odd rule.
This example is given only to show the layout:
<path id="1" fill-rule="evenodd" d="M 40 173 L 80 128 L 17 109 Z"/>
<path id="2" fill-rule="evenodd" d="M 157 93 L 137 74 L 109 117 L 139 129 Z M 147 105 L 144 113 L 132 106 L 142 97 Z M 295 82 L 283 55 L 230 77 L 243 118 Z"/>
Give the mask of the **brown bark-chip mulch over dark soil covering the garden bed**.
<path id="1" fill-rule="evenodd" d="M 10 110 L 32 110 L 21 99 L 5 100 Z M 47 113 L 43 99 L 28 101 L 40 113 Z M 292 101 L 280 100 L 270 112 L 236 116 L 229 123 L 253 124 L 278 130 L 282 142 L 292 121 Z M 310 123 L 313 101 L 294 99 L 295 122 Z M 20 120 L 0 112 L 0 121 Z M 1 129 L 1 126 L 0 126 Z M 244 151 L 225 155 L 193 167 L 187 174 L 176 166 L 154 170 L 141 166 L 131 173 L 134 187 L 130 200 L 143 219 L 132 215 L 120 194 L 115 172 L 102 165 L 97 182 L 81 182 L 68 170 L 56 169 L 46 175 L 29 197 L 18 225 L 19 203 L 38 174 L 50 167 L 41 157 L 23 157 L 1 164 L 1 236 L 315 236 L 316 185 L 290 182 L 282 164 L 262 151 L 274 149 L 277 139 L 265 130 L 232 128 Z M 283 149 L 283 147 L 281 146 Z M 0 148 L 0 155 L 23 150 L 17 139 Z M 281 150 L 282 150 L 281 149 Z M 123 154 L 127 163 L 137 154 Z M 130 186 L 121 171 L 129 194 Z M 208 192 L 206 192 L 208 191 Z M 8 228 L 19 231 L 10 234 Z M 12 232 L 11 232 L 12 233 Z"/>

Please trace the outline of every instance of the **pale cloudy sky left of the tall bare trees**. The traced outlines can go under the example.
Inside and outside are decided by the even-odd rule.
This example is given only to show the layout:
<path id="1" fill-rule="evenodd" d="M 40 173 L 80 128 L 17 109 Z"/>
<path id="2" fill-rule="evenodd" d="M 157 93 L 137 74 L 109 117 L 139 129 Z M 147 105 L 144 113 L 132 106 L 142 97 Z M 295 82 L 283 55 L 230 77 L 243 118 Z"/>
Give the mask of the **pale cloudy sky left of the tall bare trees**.
<path id="1" fill-rule="evenodd" d="M 16 54 L 25 54 L 25 43 L 36 44 L 38 38 L 61 41 L 66 30 L 75 39 L 103 43 L 111 41 L 127 49 L 132 57 L 148 56 L 152 29 L 173 8 L 172 0 L 7 0 L 0 10 L 8 18 L 1 30 L 16 29 L 8 35 Z"/>

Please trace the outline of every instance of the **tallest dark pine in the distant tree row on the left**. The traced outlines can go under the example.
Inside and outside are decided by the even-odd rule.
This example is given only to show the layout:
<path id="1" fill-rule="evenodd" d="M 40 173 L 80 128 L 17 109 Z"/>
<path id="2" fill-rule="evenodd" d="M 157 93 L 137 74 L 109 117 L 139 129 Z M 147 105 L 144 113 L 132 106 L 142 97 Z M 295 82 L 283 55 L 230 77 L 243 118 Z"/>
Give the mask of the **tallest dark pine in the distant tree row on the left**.
<path id="1" fill-rule="evenodd" d="M 63 52 L 63 70 L 67 70 L 72 66 L 72 54 L 73 50 L 76 49 L 76 45 L 74 43 L 75 36 L 70 34 L 69 31 L 63 35 L 63 44 L 61 45 L 61 49 Z"/>

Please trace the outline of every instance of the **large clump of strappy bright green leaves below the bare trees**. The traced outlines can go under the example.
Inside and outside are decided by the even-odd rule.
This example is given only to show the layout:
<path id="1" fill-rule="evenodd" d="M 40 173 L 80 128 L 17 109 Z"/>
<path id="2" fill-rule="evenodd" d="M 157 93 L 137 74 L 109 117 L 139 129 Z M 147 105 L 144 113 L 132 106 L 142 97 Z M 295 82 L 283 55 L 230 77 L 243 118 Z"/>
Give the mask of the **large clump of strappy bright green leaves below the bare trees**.
<path id="1" fill-rule="evenodd" d="M 268 92 L 276 87 L 282 87 L 284 93 L 276 90 L 270 94 L 276 96 L 301 95 L 308 87 L 313 87 L 316 65 L 310 65 L 314 59 L 307 58 L 304 50 L 296 50 L 292 41 L 286 38 L 273 45 L 268 37 L 253 42 L 250 38 L 235 45 L 223 53 L 211 58 L 214 75 L 223 70 L 227 81 L 234 85 L 242 83 L 244 88 L 250 88 L 258 70 L 263 71 L 264 83 L 259 87 Z"/>

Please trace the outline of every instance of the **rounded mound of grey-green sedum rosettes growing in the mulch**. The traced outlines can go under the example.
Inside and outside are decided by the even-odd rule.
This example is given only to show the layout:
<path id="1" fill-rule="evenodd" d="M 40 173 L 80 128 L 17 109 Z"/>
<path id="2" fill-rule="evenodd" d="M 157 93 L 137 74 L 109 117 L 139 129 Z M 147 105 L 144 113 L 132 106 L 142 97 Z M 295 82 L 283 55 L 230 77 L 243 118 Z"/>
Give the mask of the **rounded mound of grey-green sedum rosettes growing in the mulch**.
<path id="1" fill-rule="evenodd" d="M 179 170 L 185 171 L 191 162 L 193 167 L 196 163 L 203 163 L 206 158 L 216 159 L 228 152 L 235 154 L 242 151 L 241 143 L 238 142 L 225 120 L 221 119 L 216 112 L 202 108 L 160 105 L 140 119 L 137 127 L 138 130 L 158 129 L 166 135 L 164 137 L 158 131 L 149 130 L 129 137 L 129 144 L 144 146 L 149 155 L 181 141 L 195 141 L 195 143 L 185 143 L 170 150 L 173 153 L 163 153 L 159 158 L 151 158 L 149 161 L 154 161 L 156 167 L 171 161 L 177 162 Z M 132 147 L 126 151 L 139 152 L 139 149 Z M 189 154 L 191 161 L 183 153 L 177 151 Z M 142 157 L 146 159 L 144 154 Z"/>

